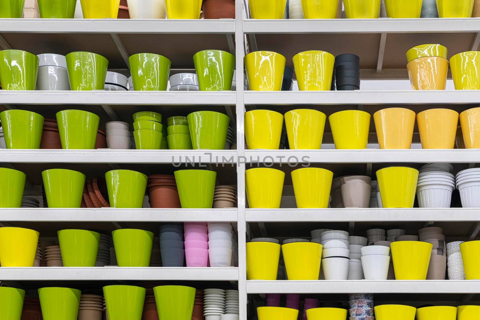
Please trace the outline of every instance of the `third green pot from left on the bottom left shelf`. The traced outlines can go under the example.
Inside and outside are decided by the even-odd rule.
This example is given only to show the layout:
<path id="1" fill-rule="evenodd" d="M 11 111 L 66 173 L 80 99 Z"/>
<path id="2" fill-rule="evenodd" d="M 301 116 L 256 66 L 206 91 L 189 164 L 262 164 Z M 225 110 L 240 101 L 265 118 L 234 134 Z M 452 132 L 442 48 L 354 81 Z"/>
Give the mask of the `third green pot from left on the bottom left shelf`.
<path id="1" fill-rule="evenodd" d="M 104 286 L 108 320 L 141 320 L 145 293 L 145 288 L 134 285 Z"/>

